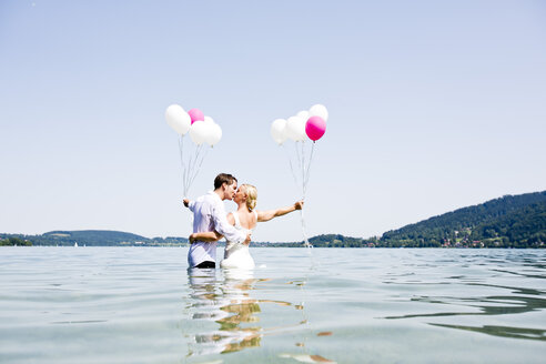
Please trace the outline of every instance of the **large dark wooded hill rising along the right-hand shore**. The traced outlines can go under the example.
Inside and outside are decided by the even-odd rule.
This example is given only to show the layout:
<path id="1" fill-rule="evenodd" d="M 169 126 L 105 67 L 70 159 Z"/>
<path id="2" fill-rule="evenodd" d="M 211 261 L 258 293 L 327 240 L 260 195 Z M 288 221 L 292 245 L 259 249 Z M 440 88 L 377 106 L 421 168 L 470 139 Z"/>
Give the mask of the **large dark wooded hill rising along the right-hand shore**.
<path id="1" fill-rule="evenodd" d="M 383 246 L 540 245 L 546 242 L 546 191 L 459 209 L 388 231 L 380 241 Z"/>

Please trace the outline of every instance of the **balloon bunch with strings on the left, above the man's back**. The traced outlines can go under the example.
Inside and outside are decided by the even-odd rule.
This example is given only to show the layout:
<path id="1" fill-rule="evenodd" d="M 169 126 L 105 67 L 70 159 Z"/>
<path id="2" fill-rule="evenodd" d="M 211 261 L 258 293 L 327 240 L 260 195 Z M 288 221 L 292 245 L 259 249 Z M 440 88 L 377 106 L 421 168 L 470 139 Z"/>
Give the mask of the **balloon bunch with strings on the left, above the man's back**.
<path id="1" fill-rule="evenodd" d="M 184 196 L 198 176 L 203 164 L 203 160 L 209 149 L 205 144 L 213 148 L 222 139 L 222 129 L 210 117 L 205 117 L 199 109 L 191 109 L 185 112 L 181 105 L 172 104 L 165 111 L 166 123 L 179 134 L 180 161 L 182 164 L 182 182 Z M 190 133 L 194 148 L 186 151 L 188 159 L 184 159 L 184 136 Z"/>

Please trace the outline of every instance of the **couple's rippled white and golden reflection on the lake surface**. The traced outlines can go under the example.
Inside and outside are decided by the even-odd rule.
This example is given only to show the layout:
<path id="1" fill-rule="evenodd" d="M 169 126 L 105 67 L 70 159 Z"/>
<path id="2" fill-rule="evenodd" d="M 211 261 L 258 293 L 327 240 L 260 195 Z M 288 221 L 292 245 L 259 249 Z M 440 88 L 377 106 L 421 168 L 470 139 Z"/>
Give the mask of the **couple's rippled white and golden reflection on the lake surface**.
<path id="1" fill-rule="evenodd" d="M 261 304 L 275 303 L 301 310 L 290 302 L 256 300 L 252 291 L 256 283 L 252 270 L 190 269 L 190 316 L 213 321 L 216 330 L 192 333 L 189 356 L 233 353 L 261 345 L 264 328 L 260 325 Z M 208 326 L 208 325 L 203 325 Z"/>

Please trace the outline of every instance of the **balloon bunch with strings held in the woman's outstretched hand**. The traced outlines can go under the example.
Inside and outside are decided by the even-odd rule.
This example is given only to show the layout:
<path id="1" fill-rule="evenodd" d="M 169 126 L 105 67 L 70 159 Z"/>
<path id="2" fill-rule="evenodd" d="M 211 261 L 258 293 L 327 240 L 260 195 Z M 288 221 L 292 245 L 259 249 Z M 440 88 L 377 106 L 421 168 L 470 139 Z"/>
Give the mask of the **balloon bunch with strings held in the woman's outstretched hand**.
<path id="1" fill-rule="evenodd" d="M 291 154 L 289 153 L 289 163 L 294 181 L 297 185 L 302 186 L 303 199 L 305 200 L 305 193 L 307 190 L 307 182 L 310 176 L 311 162 L 313 160 L 313 152 L 315 149 L 315 142 L 321 139 L 326 132 L 326 121 L 328 119 L 328 111 L 322 104 L 315 104 L 309 110 L 300 111 L 294 117 L 285 119 L 276 119 L 271 124 L 271 136 L 279 144 L 284 146 L 286 140 L 294 141 L 296 168 L 297 173 L 294 171 Z M 313 141 L 311 144 L 311 153 L 309 160 L 305 158 L 305 142 Z M 312 246 L 307 240 L 305 233 L 305 219 L 302 212 L 302 231 L 306 246 Z"/>

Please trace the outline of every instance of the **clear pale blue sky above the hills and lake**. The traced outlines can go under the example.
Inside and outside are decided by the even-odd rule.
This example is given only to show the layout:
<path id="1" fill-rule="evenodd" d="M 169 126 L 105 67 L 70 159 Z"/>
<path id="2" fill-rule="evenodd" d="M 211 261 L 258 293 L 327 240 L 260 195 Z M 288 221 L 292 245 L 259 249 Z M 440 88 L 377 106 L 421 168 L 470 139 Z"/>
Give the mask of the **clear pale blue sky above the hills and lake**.
<path id="1" fill-rule="evenodd" d="M 271 122 L 325 104 L 310 235 L 545 190 L 545 46 L 544 1 L 2 1 L 0 232 L 188 235 L 171 103 L 223 129 L 191 195 L 226 171 L 259 209 L 300 196 Z"/>

